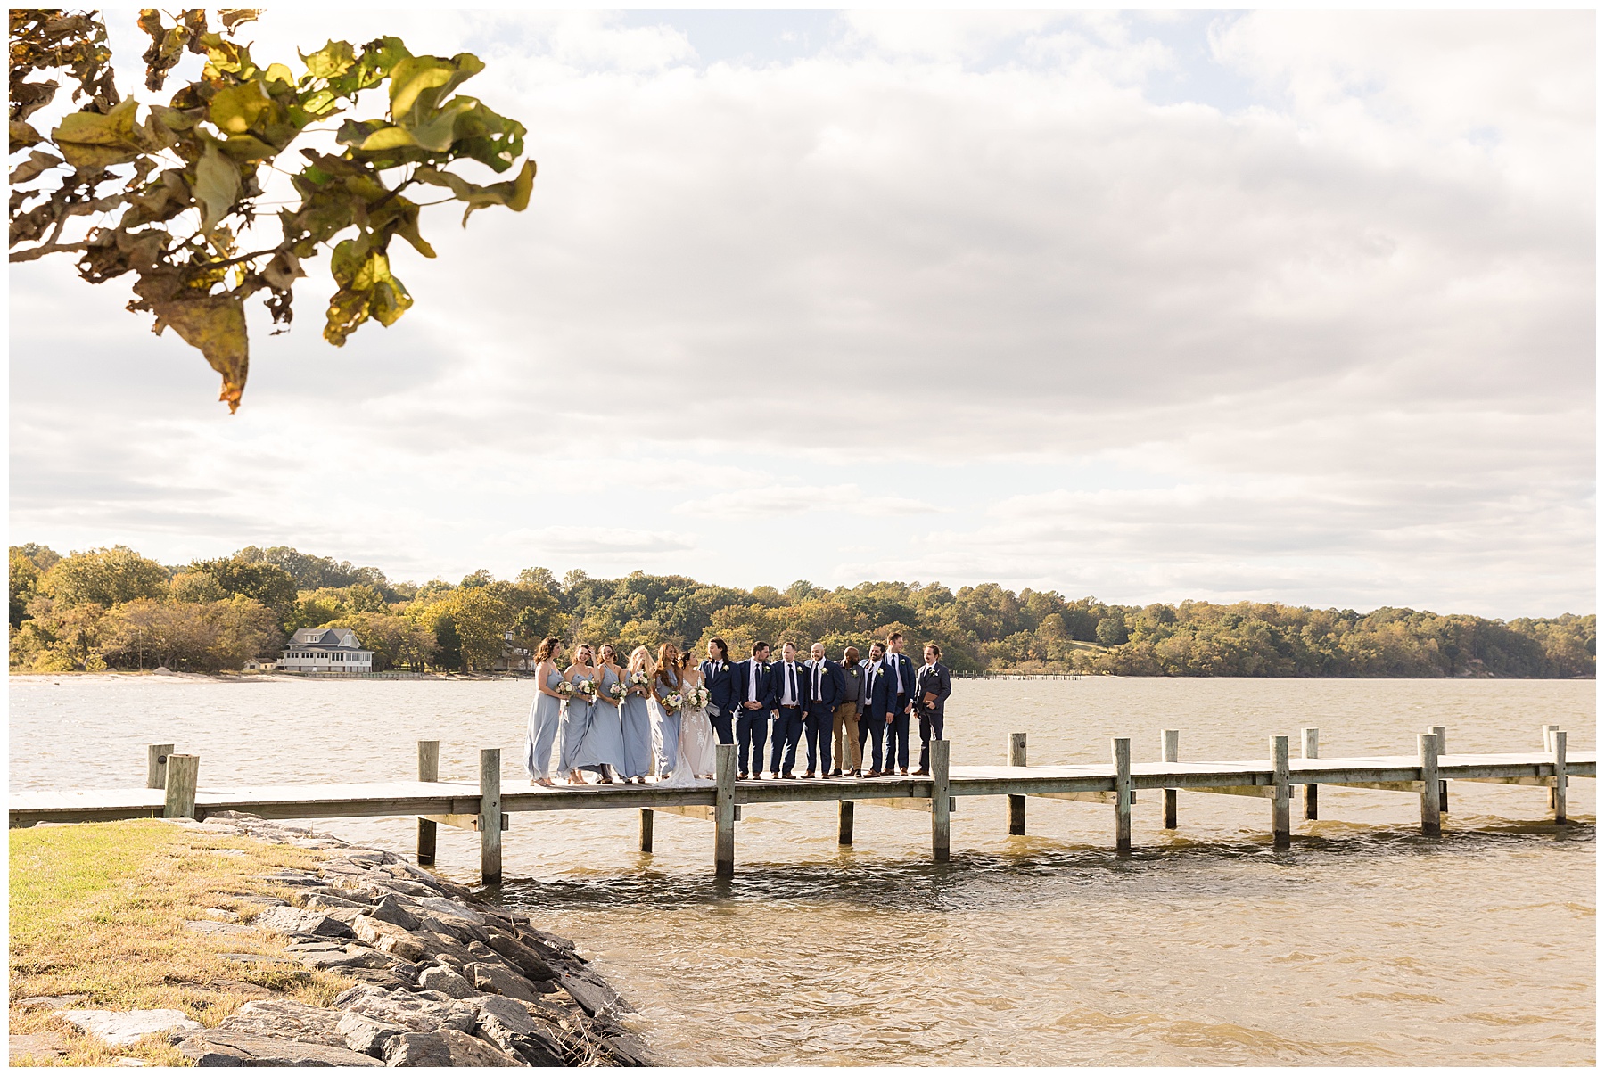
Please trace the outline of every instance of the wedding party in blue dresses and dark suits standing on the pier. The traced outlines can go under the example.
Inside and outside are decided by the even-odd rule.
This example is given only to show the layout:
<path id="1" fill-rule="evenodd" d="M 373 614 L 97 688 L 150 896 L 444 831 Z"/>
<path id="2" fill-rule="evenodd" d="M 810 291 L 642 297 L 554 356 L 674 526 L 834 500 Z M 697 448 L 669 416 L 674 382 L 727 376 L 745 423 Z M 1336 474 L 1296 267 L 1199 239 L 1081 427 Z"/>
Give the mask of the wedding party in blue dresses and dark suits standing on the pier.
<path id="1" fill-rule="evenodd" d="M 904 654 L 902 632 L 892 632 L 868 657 L 847 646 L 841 661 L 825 657 L 823 643 L 799 661 L 786 641 L 770 661 L 761 640 L 750 657 L 732 661 L 725 641 L 714 638 L 701 662 L 663 643 L 656 657 L 637 646 L 620 665 L 612 643 L 578 643 L 563 669 L 562 643 L 547 637 L 534 651 L 525 768 L 530 783 L 544 787 L 555 787 L 554 773 L 568 784 L 591 784 L 594 775 L 597 784 L 652 779 L 684 787 L 713 781 L 714 744 L 735 744 L 738 781 L 762 779 L 766 746 L 774 779 L 910 776 L 908 736 L 918 717 L 913 776 L 924 776 L 953 685 L 941 646 L 926 643 L 923 656 L 916 669 Z"/>

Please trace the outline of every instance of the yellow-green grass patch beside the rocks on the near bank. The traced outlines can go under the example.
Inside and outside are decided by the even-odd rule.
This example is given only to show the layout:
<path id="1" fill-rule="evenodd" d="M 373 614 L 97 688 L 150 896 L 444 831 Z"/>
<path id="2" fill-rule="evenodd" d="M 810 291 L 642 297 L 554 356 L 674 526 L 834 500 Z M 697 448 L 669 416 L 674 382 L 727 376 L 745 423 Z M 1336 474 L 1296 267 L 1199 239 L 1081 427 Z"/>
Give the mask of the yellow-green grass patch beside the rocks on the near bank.
<path id="1" fill-rule="evenodd" d="M 64 1033 L 66 1065 L 138 1057 L 186 1063 L 162 1036 L 108 1049 L 50 1010 L 16 1005 L 40 994 L 87 994 L 72 1009 L 178 1009 L 212 1026 L 262 989 L 327 1005 L 351 980 L 300 965 L 223 961 L 221 953 L 282 956 L 282 938 L 205 935 L 185 927 L 221 908 L 249 922 L 258 904 L 242 895 L 289 900 L 257 876 L 316 868 L 321 855 L 154 819 L 13 829 L 11 1033 Z M 50 1063 L 50 1062 L 43 1062 Z"/>

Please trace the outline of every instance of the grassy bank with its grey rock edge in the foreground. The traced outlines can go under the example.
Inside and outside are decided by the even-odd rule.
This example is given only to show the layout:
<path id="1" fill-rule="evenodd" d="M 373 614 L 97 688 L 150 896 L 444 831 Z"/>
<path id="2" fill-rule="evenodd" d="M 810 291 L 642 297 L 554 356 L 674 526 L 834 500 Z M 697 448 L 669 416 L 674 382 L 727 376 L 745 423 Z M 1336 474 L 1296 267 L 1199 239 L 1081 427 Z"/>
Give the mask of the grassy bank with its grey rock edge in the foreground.
<path id="1" fill-rule="evenodd" d="M 11 1065 L 648 1065 L 567 938 L 223 811 L 13 831 Z"/>

